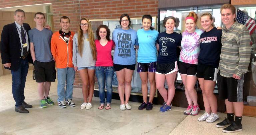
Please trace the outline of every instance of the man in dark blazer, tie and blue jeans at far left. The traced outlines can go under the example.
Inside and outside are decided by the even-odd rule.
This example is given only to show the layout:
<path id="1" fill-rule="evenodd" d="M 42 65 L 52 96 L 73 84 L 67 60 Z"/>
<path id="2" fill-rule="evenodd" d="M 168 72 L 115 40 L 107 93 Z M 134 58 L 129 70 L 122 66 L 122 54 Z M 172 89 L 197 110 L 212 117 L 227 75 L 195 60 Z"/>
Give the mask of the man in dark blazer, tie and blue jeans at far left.
<path id="1" fill-rule="evenodd" d="M 15 22 L 5 25 L 1 34 L 0 51 L 2 64 L 5 69 L 11 70 L 12 95 L 16 102 L 15 111 L 29 113 L 24 96 L 26 77 L 28 74 L 28 62 L 33 63 L 30 50 L 28 31 L 31 29 L 26 23 L 25 12 L 17 9 L 14 15 Z"/>

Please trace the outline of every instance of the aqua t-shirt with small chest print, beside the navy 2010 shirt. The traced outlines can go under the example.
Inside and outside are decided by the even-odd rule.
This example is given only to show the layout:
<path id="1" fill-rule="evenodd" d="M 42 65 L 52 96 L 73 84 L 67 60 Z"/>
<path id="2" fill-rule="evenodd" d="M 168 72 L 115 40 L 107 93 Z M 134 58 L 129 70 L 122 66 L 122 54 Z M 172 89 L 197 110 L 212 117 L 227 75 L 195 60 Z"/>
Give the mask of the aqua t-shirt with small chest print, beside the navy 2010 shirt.
<path id="1" fill-rule="evenodd" d="M 137 31 L 139 50 L 138 50 L 138 62 L 150 63 L 157 61 L 156 58 L 156 39 L 158 31 L 139 29 Z"/>

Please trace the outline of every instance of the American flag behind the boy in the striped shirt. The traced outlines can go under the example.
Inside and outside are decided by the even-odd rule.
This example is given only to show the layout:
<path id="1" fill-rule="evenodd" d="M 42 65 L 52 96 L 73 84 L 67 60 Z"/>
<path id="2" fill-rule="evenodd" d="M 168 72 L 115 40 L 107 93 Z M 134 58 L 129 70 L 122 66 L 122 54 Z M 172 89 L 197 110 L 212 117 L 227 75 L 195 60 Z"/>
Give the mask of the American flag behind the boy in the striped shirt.
<path id="1" fill-rule="evenodd" d="M 246 15 L 243 11 L 238 10 L 237 11 L 237 17 L 236 20 L 238 21 L 238 23 L 245 25 L 249 32 L 250 35 L 253 33 L 253 31 L 256 29 L 256 24 L 255 24 L 255 20 L 253 20 L 251 17 L 249 17 L 248 15 Z"/>

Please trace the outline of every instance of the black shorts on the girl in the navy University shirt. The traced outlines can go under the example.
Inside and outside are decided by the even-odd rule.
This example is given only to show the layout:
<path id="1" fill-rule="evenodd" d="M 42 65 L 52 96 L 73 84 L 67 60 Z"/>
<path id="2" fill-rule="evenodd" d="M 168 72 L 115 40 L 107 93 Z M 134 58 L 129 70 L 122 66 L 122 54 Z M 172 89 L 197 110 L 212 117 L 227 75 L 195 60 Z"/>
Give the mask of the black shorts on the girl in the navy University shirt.
<path id="1" fill-rule="evenodd" d="M 218 74 L 218 68 L 214 68 L 210 65 L 205 65 L 198 62 L 197 74 L 198 78 L 204 78 L 204 80 L 216 81 Z"/>

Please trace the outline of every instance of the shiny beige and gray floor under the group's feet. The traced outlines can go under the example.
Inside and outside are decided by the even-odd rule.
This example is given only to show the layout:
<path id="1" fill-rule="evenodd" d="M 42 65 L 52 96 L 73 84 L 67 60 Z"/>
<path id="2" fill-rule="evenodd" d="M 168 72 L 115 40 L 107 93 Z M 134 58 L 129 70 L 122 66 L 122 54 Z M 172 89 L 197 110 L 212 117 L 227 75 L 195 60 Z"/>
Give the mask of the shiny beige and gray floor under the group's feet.
<path id="1" fill-rule="evenodd" d="M 94 97 L 93 107 L 80 109 L 81 90 L 75 89 L 73 101 L 75 107 L 59 108 L 57 83 L 51 84 L 50 97 L 55 105 L 39 107 L 37 84 L 29 71 L 25 87 L 25 101 L 33 105 L 30 113 L 14 111 L 11 92 L 11 75 L 0 77 L 0 135 L 185 135 L 185 134 L 225 134 L 215 124 L 226 116 L 219 113 L 220 120 L 214 123 L 199 122 L 198 116 L 184 115 L 185 108 L 172 107 L 166 113 L 160 113 L 160 105 L 154 105 L 151 111 L 138 110 L 140 103 L 130 102 L 131 110 L 120 110 L 120 101 L 113 100 L 110 110 L 99 110 L 99 98 Z M 184 99 L 186 100 L 186 99 Z M 256 134 L 256 118 L 243 116 L 243 131 L 233 134 Z M 233 135 L 232 134 L 232 135 Z"/>

